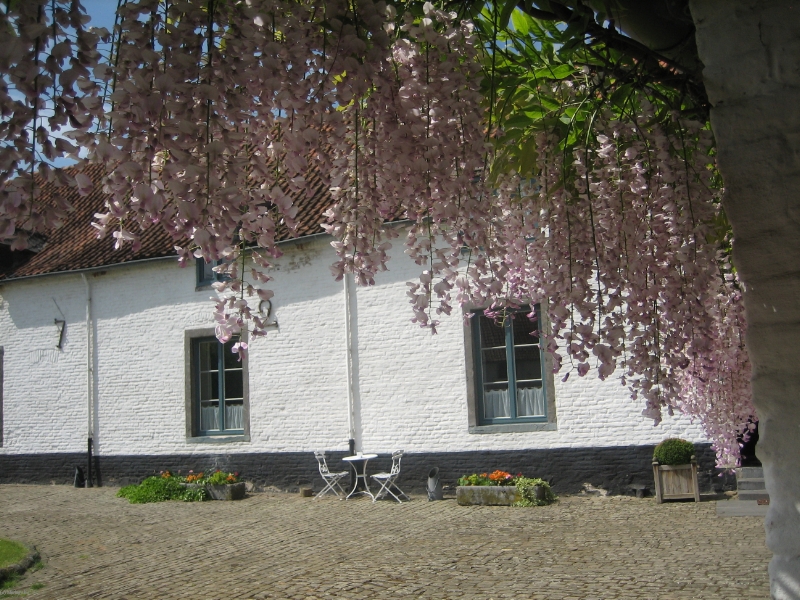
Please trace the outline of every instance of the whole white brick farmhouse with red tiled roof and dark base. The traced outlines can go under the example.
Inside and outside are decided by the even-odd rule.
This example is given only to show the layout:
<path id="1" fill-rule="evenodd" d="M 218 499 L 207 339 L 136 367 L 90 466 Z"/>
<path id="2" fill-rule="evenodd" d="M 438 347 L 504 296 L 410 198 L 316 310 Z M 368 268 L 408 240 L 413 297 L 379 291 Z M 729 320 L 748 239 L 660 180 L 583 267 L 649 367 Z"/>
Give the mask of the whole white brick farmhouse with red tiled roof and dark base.
<path id="1" fill-rule="evenodd" d="M 404 449 L 412 489 L 436 466 L 445 484 L 503 469 L 626 493 L 652 489 L 653 446 L 673 436 L 698 444 L 702 488 L 722 481 L 688 418 L 653 427 L 615 380 L 554 378 L 528 320 L 454 314 L 438 335 L 411 323 L 419 267 L 400 244 L 374 286 L 335 281 L 321 193 L 282 242 L 262 306 L 274 326 L 243 363 L 213 337 L 205 265 L 181 268 L 158 226 L 139 252 L 115 251 L 88 226 L 102 194 L 69 199 L 36 252 L 0 246 L 0 482 L 66 483 L 91 464 L 95 485 L 222 468 L 292 489 L 318 479 L 314 450 L 342 469 L 374 452 L 377 469 Z"/>

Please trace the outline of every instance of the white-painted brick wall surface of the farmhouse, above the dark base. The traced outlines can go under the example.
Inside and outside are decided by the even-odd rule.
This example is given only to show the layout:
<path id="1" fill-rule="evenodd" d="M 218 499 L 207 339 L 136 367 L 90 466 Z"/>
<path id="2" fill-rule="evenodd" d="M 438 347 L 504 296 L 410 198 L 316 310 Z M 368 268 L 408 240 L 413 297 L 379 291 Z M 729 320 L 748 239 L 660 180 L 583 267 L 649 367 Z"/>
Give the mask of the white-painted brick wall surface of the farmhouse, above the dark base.
<path id="1" fill-rule="evenodd" d="M 285 246 L 274 272 L 280 327 L 251 339 L 250 442 L 188 443 L 184 332 L 212 326 L 211 290 L 174 260 L 89 275 L 97 340 L 96 451 L 105 454 L 346 450 L 347 370 L 342 282 L 325 238 Z M 463 323 L 443 317 L 438 335 L 411 323 L 406 281 L 418 272 L 399 247 L 391 271 L 359 288 L 355 386 L 359 449 L 388 452 L 512 450 L 705 441 L 684 417 L 653 427 L 615 381 L 556 378 L 556 431 L 470 434 Z M 0 453 L 81 452 L 87 431 L 86 291 L 79 275 L 0 287 L 5 350 Z M 67 320 L 56 350 L 54 318 Z"/>

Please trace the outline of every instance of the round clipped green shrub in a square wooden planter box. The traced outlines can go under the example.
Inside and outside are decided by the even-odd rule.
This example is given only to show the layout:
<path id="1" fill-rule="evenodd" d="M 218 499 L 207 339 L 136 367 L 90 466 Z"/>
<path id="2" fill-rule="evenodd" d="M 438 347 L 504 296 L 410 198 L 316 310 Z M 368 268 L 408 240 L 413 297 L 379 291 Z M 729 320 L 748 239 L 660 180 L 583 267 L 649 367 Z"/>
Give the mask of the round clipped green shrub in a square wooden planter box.
<path id="1" fill-rule="evenodd" d="M 694 444 L 679 438 L 668 438 L 653 452 L 653 478 L 656 502 L 694 498 L 700 502 L 697 484 L 697 461 Z"/>

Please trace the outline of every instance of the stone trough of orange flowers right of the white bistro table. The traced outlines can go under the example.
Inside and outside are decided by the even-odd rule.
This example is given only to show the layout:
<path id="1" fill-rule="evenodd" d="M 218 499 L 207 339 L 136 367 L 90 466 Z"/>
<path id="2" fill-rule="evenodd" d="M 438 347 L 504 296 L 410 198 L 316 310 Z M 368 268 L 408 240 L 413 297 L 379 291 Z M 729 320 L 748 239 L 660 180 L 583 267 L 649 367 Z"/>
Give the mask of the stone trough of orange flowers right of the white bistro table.
<path id="1" fill-rule="evenodd" d="M 555 499 L 546 481 L 500 470 L 464 475 L 456 488 L 456 500 L 462 506 L 540 506 Z"/>

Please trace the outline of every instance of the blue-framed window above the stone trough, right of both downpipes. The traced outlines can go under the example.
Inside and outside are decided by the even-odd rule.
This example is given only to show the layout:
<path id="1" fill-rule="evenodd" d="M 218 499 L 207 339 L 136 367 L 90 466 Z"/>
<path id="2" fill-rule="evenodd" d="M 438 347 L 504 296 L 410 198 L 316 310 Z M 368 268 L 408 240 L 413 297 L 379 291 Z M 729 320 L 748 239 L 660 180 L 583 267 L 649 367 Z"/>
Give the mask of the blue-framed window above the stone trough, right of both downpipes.
<path id="1" fill-rule="evenodd" d="M 547 422 L 545 357 L 539 337 L 540 307 L 536 320 L 522 307 L 497 323 L 475 311 L 472 341 L 478 424 Z"/>

